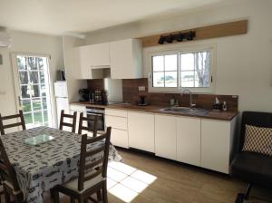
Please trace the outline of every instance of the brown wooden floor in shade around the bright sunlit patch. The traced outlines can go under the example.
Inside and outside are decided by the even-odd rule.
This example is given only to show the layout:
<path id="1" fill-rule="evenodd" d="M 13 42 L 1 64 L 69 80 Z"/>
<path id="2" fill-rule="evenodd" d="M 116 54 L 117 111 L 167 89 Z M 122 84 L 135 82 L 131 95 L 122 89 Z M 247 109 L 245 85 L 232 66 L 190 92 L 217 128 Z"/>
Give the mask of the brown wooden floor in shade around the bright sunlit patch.
<path id="1" fill-rule="evenodd" d="M 234 203 L 237 193 L 247 187 L 243 182 L 209 170 L 126 150 L 119 152 L 125 164 L 157 178 L 132 203 Z M 108 198 L 110 203 L 124 202 L 110 192 Z M 62 202 L 68 203 L 69 199 L 63 197 Z M 272 202 L 272 194 L 268 189 L 253 188 L 248 202 Z"/>

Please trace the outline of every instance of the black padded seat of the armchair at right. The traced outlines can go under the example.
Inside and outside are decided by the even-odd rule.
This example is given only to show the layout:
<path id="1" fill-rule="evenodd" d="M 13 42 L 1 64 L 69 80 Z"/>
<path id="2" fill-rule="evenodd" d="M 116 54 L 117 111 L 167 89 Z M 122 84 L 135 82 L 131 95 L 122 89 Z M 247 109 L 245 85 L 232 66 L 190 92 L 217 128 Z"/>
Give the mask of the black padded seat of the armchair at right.
<path id="1" fill-rule="evenodd" d="M 249 183 L 271 187 L 272 157 L 253 152 L 240 152 L 231 162 L 230 175 Z"/>

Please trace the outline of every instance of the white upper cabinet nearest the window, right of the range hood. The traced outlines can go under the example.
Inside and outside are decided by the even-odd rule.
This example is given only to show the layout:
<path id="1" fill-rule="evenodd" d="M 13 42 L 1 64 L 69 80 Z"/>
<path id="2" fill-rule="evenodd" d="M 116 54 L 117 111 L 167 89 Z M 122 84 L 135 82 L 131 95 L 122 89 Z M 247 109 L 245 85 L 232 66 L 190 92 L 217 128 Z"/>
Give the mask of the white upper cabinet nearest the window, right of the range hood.
<path id="1" fill-rule="evenodd" d="M 142 77 L 141 41 L 126 39 L 110 43 L 112 79 Z"/>

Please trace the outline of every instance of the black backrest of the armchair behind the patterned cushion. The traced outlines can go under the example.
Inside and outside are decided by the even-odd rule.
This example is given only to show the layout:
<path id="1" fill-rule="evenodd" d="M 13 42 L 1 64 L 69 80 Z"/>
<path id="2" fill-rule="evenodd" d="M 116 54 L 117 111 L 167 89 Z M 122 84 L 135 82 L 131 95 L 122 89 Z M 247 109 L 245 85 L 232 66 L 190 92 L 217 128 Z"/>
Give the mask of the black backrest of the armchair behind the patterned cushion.
<path id="1" fill-rule="evenodd" d="M 241 151 L 245 142 L 246 125 L 257 127 L 272 128 L 272 113 L 244 111 L 241 121 L 241 133 L 239 139 L 239 150 Z"/>

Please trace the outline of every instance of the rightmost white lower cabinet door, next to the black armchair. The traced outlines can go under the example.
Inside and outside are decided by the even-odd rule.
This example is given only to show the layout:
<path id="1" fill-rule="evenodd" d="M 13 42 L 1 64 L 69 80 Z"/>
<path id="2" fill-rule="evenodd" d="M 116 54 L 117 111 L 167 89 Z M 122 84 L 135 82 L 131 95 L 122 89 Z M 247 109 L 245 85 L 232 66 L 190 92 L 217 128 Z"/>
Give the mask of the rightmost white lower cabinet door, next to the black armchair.
<path id="1" fill-rule="evenodd" d="M 201 121 L 201 167 L 228 173 L 230 122 Z"/>

